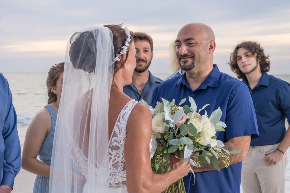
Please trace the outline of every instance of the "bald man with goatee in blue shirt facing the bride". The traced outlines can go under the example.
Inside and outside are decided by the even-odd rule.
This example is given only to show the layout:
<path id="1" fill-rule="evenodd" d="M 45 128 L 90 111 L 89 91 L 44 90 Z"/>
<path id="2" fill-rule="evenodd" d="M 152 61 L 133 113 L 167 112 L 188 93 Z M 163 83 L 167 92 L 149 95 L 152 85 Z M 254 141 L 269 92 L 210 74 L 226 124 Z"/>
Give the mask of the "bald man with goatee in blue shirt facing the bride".
<path id="1" fill-rule="evenodd" d="M 259 136 L 249 89 L 238 79 L 220 72 L 218 66 L 213 64 L 216 43 L 209 26 L 187 24 L 179 30 L 175 43 L 176 57 L 185 73 L 159 84 L 153 92 L 151 105 L 162 102 L 162 97 L 170 101 L 175 99 L 176 103 L 186 98 L 182 105 L 190 106 L 188 96 L 191 96 L 199 108 L 210 104 L 201 114 L 207 111 L 211 115 L 220 107 L 221 121 L 227 127 L 225 132 L 217 131 L 217 140 L 224 142 L 225 149 L 241 152 L 230 156 L 227 168 L 219 158 L 220 172 L 212 164 L 201 163 L 201 167 L 193 167 L 195 184 L 192 173 L 184 177 L 186 192 L 240 192 L 241 161 L 247 156 L 251 139 Z M 213 156 L 208 158 L 212 161 Z"/>

